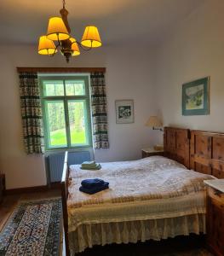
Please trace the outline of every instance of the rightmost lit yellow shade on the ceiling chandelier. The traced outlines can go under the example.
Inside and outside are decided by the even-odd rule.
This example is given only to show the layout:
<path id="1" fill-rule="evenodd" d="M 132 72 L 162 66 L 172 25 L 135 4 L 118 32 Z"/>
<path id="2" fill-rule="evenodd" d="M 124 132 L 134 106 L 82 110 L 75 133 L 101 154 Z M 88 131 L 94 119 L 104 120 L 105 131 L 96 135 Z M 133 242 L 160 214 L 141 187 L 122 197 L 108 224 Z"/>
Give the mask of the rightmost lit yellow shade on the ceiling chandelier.
<path id="1" fill-rule="evenodd" d="M 81 44 L 85 47 L 100 47 L 101 37 L 96 26 L 87 26 L 83 33 Z"/>

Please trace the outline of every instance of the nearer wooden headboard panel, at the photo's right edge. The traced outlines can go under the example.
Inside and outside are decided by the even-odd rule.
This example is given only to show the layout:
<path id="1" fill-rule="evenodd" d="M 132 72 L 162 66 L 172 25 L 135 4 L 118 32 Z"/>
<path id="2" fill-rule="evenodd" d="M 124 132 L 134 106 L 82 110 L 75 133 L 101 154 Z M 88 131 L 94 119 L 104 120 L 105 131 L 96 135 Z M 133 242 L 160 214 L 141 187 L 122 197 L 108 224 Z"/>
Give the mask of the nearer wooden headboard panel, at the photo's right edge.
<path id="1" fill-rule="evenodd" d="M 224 133 L 191 131 L 190 167 L 224 178 Z"/>

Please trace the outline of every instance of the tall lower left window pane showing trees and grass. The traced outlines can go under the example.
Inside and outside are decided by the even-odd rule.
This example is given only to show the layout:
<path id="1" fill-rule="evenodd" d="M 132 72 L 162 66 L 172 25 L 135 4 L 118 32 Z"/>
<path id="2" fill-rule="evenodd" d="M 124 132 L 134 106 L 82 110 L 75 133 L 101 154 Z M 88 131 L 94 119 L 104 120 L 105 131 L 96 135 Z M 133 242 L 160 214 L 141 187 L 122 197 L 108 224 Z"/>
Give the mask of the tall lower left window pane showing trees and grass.
<path id="1" fill-rule="evenodd" d="M 66 121 L 63 101 L 46 102 L 46 121 L 49 131 L 49 147 L 66 147 Z"/>

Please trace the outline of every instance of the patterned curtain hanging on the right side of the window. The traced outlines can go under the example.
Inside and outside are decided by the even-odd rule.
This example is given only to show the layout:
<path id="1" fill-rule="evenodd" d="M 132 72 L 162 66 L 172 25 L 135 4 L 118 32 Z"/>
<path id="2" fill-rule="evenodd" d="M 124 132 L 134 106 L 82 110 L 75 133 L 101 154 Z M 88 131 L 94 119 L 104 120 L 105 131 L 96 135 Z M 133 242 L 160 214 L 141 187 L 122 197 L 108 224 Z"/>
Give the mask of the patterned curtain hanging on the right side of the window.
<path id="1" fill-rule="evenodd" d="M 109 148 L 104 73 L 90 73 L 94 148 Z"/>

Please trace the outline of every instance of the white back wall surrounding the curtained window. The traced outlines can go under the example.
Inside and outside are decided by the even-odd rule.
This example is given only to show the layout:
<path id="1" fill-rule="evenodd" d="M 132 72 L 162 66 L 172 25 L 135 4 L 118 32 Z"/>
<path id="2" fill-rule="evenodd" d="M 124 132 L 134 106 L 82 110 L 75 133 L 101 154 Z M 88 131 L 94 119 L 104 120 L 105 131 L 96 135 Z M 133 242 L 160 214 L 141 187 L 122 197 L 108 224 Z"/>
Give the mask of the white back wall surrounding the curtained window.
<path id="1" fill-rule="evenodd" d="M 148 46 L 133 49 L 131 45 L 129 49 L 95 49 L 67 65 L 60 54 L 53 58 L 37 55 L 37 46 L 0 47 L 0 170 L 6 174 L 7 189 L 46 184 L 43 156 L 24 153 L 16 67 L 106 67 L 110 148 L 97 150 L 97 161 L 138 159 L 141 148 L 156 142 L 158 132 L 144 126 L 158 109 L 155 56 Z M 116 99 L 134 99 L 134 124 L 116 124 Z"/>

